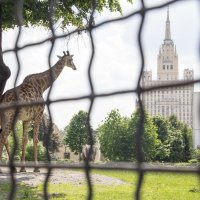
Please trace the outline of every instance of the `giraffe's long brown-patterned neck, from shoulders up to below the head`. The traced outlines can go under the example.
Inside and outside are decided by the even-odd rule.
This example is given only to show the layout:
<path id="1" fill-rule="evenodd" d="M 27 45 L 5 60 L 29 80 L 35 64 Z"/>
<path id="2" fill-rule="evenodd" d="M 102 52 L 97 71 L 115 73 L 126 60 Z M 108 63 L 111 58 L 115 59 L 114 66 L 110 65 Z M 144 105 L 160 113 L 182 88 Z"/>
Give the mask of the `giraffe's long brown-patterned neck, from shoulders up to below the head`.
<path id="1" fill-rule="evenodd" d="M 35 88 L 38 92 L 42 94 L 58 78 L 64 66 L 64 62 L 61 59 L 50 69 L 39 74 L 32 74 L 27 76 L 24 79 L 23 85 L 25 87 L 26 85 L 29 85 L 30 87 Z"/>

